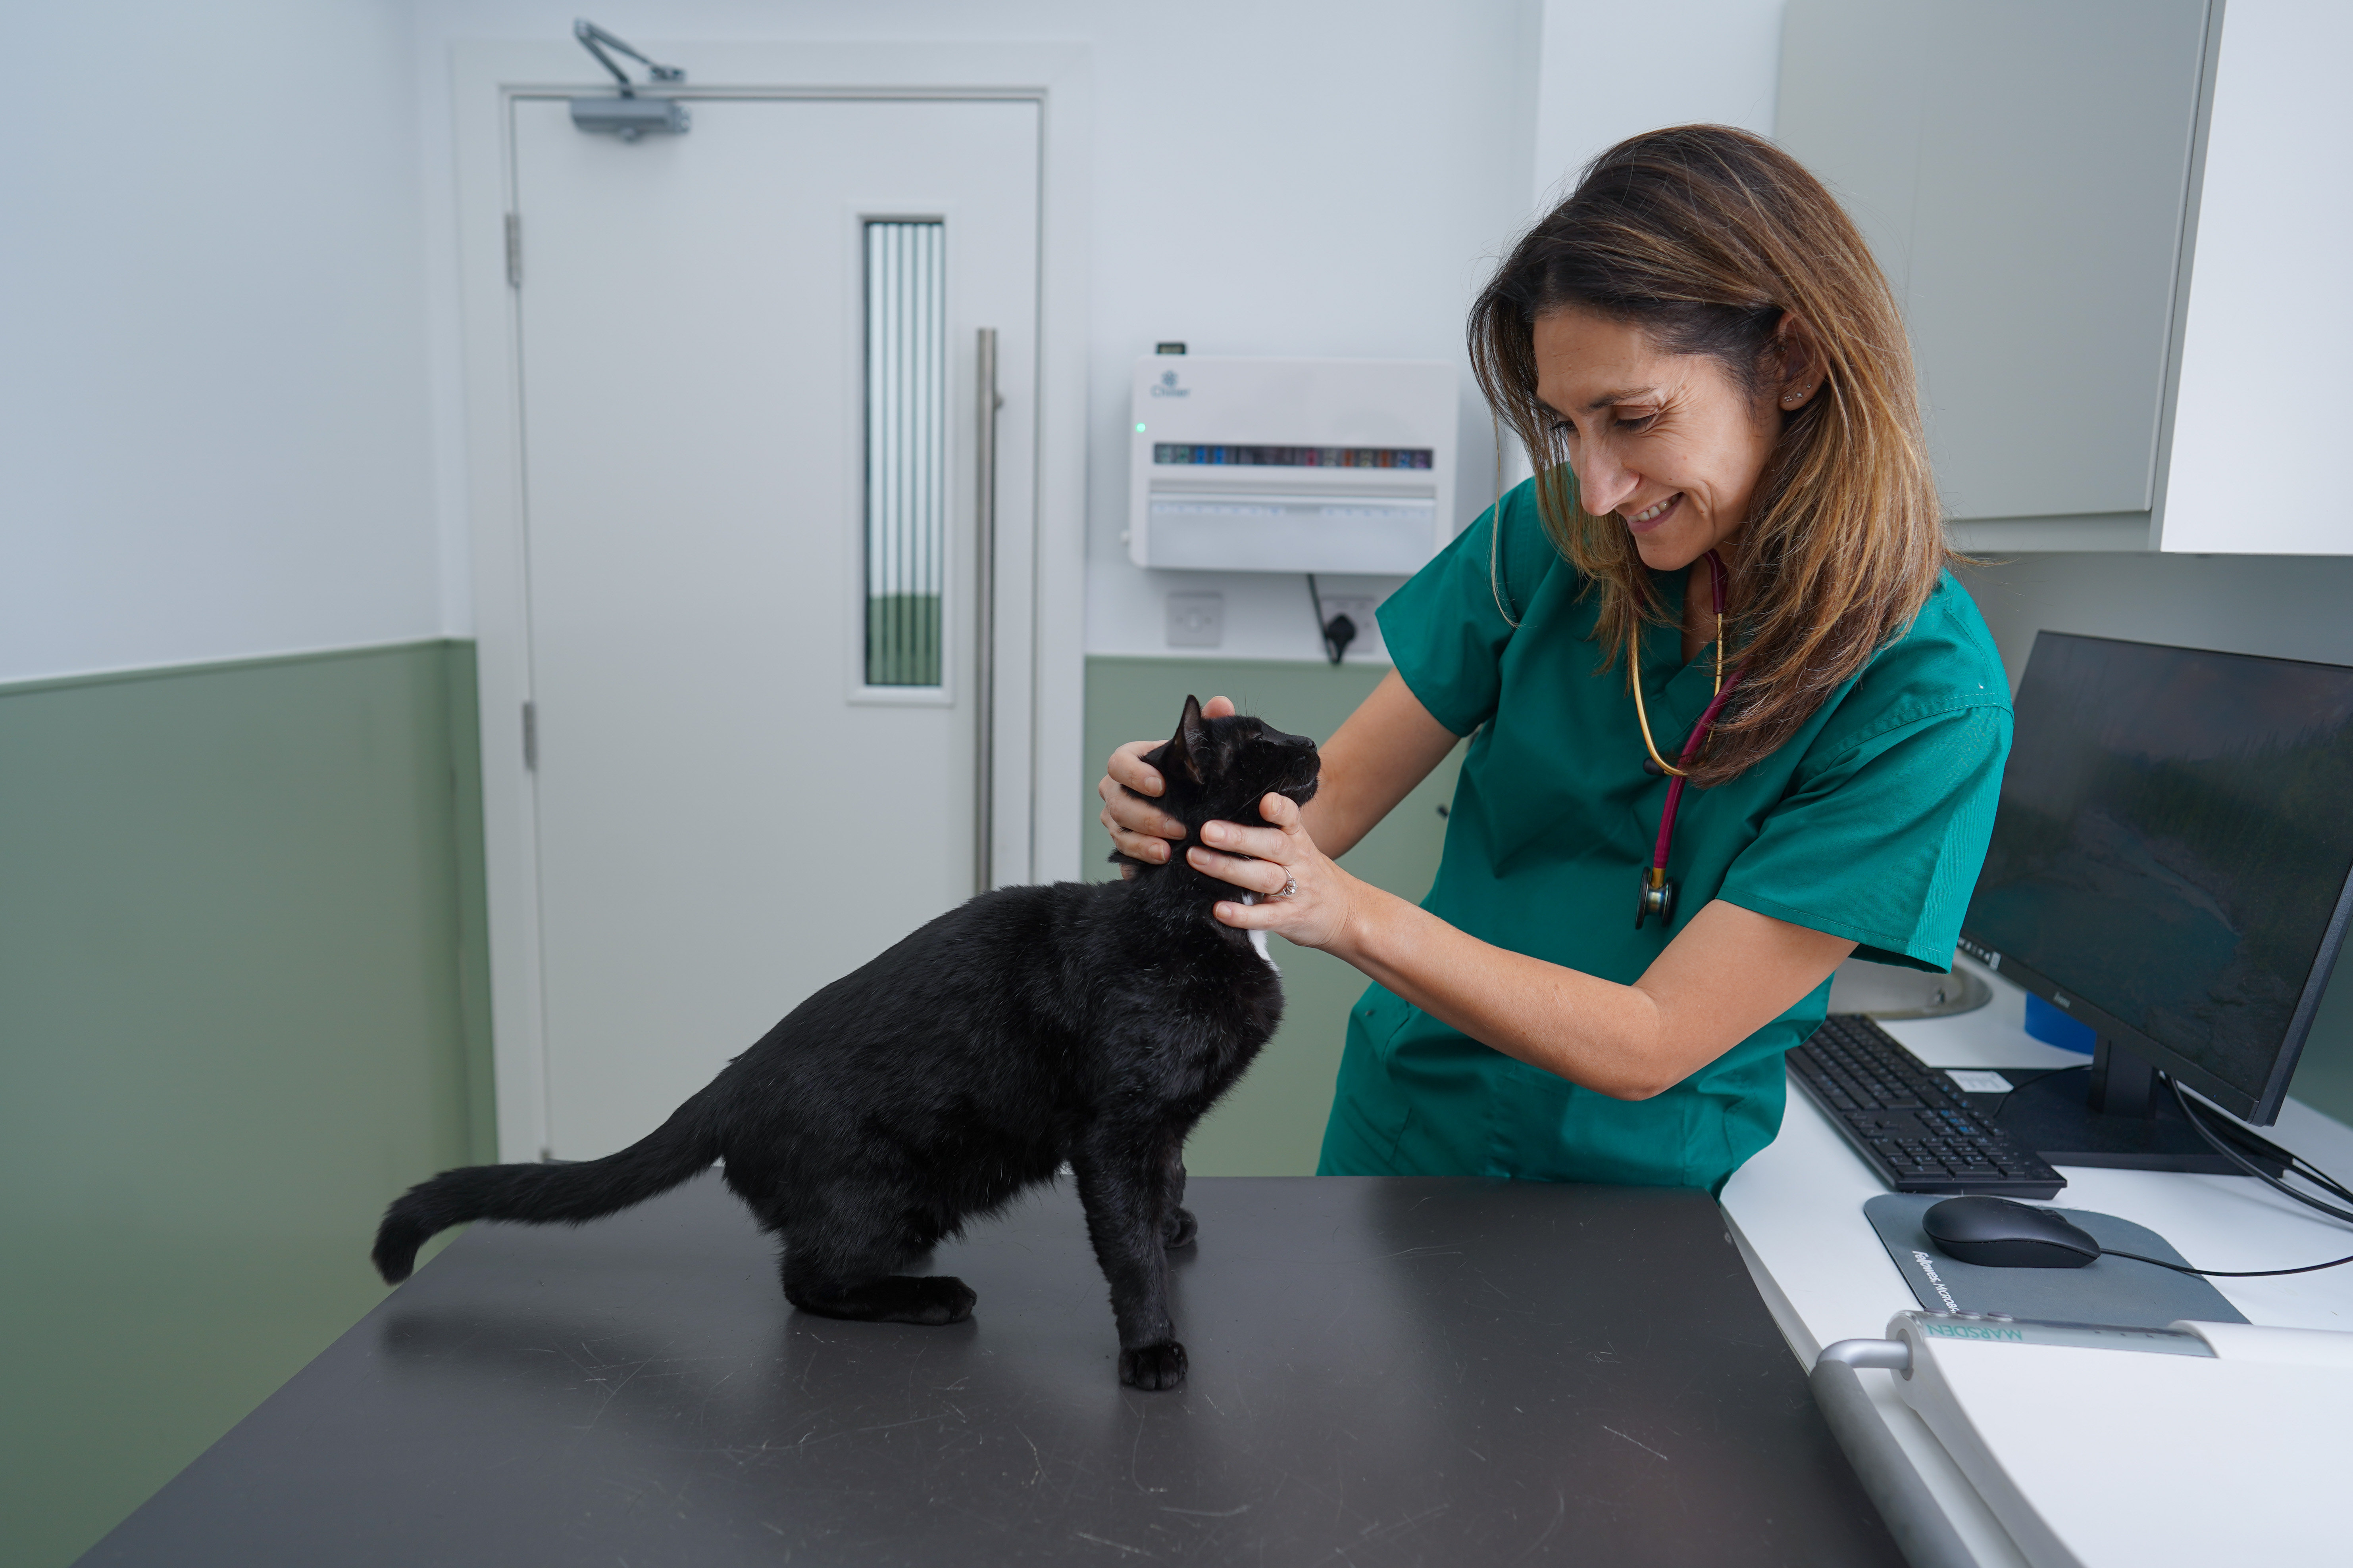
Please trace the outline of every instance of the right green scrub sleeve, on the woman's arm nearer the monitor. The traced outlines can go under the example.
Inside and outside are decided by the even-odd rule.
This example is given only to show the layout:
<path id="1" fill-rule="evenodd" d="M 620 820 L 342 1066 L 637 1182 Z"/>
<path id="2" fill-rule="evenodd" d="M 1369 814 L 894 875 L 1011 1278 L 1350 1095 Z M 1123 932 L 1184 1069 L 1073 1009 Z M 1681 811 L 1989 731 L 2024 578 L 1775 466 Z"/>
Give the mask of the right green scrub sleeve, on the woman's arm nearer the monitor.
<path id="1" fill-rule="evenodd" d="M 1993 837 L 2009 710 L 1969 703 L 1892 722 L 1798 771 L 1718 898 L 1946 971 Z"/>

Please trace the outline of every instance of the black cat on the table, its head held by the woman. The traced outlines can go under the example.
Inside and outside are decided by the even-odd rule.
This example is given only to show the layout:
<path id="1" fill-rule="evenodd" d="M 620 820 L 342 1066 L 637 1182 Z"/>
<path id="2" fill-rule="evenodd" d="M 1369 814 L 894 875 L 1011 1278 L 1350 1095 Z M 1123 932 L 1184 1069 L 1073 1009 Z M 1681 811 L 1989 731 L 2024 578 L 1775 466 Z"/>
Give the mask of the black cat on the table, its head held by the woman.
<path id="1" fill-rule="evenodd" d="M 1264 823 L 1259 802 L 1315 795 L 1315 745 L 1259 719 L 1202 719 L 1186 698 L 1151 755 L 1160 806 Z M 1129 882 L 981 893 L 824 987 L 649 1138 L 562 1166 L 468 1166 L 412 1187 L 376 1229 L 376 1272 L 466 1220 L 579 1225 L 727 1161 L 727 1185 L 784 1239 L 784 1295 L 805 1312 L 955 1324 L 960 1279 L 896 1269 L 1068 1161 L 1111 1281 L 1120 1382 L 1184 1385 L 1165 1248 L 1193 1241 L 1184 1140 L 1282 1018 L 1282 983 L 1209 912 L 1235 889 L 1179 846 Z"/>

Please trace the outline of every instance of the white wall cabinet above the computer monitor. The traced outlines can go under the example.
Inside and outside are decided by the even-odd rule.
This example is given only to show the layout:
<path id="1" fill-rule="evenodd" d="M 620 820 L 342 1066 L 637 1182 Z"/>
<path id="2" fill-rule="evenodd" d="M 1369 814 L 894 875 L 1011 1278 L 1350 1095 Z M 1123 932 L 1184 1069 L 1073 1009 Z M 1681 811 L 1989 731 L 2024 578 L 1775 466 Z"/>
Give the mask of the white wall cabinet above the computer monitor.
<path id="1" fill-rule="evenodd" d="M 1791 0 L 1974 550 L 2353 555 L 2341 0 Z"/>

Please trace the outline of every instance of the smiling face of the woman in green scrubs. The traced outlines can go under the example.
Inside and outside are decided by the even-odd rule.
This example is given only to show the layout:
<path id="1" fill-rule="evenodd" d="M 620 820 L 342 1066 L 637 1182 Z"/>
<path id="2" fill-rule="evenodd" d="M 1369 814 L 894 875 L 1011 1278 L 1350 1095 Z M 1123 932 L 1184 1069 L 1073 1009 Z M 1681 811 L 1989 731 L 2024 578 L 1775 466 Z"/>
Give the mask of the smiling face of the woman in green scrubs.
<path id="1" fill-rule="evenodd" d="M 1678 571 L 1739 534 L 1781 435 L 1777 386 L 1751 395 L 1722 362 L 1574 306 L 1537 317 L 1534 348 L 1579 498 L 1626 524 L 1645 567 Z"/>

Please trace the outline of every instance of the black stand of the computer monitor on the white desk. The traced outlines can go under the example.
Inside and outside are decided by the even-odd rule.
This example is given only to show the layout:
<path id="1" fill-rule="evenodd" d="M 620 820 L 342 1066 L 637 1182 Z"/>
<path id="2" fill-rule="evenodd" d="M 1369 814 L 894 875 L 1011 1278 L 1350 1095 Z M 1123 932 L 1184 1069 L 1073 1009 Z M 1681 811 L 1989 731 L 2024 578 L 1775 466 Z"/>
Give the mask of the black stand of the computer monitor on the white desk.
<path id="1" fill-rule="evenodd" d="M 1998 1107 L 1986 1100 L 1979 1105 L 1995 1126 L 2054 1166 L 2245 1175 L 2198 1135 L 2155 1067 L 2106 1037 L 2089 1067 L 2045 1072 Z M 2287 1154 L 2235 1119 L 2209 1112 L 2205 1126 L 2271 1175 L 2287 1171 Z"/>

